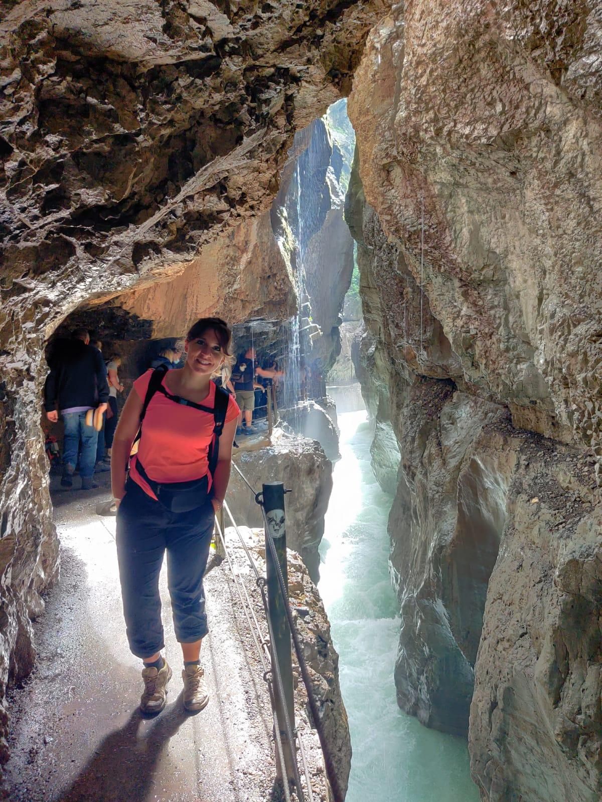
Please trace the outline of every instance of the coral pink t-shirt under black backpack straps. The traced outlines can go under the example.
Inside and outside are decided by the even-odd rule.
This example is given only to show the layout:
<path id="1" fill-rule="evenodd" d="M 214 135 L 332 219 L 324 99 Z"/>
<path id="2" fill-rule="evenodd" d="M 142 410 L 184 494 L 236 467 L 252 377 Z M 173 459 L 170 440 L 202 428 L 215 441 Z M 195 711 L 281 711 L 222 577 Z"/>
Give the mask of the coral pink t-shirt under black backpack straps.
<path id="1" fill-rule="evenodd" d="M 152 375 L 152 370 L 146 371 L 134 382 L 134 389 L 142 402 Z M 165 378 L 161 384 L 169 391 Z M 214 382 L 209 382 L 209 395 L 202 402 L 203 407 L 214 407 L 215 390 Z M 230 395 L 226 423 L 238 417 L 239 411 L 234 396 Z M 129 475 L 153 499 L 157 496 L 136 470 L 138 456 L 144 471 L 156 482 L 201 479 L 209 473 L 209 445 L 214 436 L 214 425 L 214 416 L 209 412 L 170 401 L 157 390 L 144 415 L 138 453 L 130 460 Z"/>

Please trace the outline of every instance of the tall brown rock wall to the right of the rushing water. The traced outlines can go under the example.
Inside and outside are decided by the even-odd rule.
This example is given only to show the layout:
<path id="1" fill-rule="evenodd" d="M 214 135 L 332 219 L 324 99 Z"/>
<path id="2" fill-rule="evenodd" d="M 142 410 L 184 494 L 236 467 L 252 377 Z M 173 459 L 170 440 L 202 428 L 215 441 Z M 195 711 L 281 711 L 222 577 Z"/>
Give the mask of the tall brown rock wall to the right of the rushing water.
<path id="1" fill-rule="evenodd" d="M 470 711 L 488 802 L 600 797 L 600 30 L 597 4 L 397 4 L 348 105 L 398 700 Z"/>

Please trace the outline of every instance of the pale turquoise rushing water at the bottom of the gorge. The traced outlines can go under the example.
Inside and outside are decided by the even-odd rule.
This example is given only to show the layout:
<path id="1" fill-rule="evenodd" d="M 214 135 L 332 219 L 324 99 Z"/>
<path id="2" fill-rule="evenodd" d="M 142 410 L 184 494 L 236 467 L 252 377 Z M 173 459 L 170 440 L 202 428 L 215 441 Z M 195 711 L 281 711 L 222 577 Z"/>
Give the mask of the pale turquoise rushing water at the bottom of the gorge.
<path id="1" fill-rule="evenodd" d="M 339 415 L 341 459 L 322 541 L 319 592 L 340 654 L 352 737 L 347 802 L 478 802 L 466 741 L 422 727 L 398 707 L 397 598 L 388 577 L 392 498 L 370 467 L 365 411 Z"/>

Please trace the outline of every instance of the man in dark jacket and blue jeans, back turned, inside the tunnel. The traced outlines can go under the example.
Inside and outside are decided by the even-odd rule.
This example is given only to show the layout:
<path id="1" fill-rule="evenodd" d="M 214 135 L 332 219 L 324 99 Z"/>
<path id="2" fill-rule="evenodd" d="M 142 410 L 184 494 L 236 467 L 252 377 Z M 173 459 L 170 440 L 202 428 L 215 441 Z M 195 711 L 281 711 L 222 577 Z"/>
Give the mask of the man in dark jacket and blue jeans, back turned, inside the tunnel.
<path id="1" fill-rule="evenodd" d="M 57 343 L 48 359 L 51 372 L 44 386 L 44 408 L 48 420 L 56 423 L 59 411 L 63 417 L 63 487 L 73 484 L 73 472 L 79 456 L 82 489 L 98 487 L 94 483 L 94 464 L 98 432 L 86 423 L 90 409 L 106 411 L 108 403 L 107 371 L 102 354 L 89 345 L 90 335 L 76 329 L 71 340 Z"/>

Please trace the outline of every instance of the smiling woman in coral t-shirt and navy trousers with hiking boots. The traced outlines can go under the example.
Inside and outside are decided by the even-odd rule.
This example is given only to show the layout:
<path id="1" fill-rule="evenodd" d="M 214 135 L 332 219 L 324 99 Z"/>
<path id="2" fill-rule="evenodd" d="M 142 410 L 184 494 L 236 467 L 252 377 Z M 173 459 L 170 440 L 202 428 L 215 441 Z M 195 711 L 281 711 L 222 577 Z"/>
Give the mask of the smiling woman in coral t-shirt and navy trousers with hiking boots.
<path id="1" fill-rule="evenodd" d="M 230 329 L 220 318 L 197 321 L 185 339 L 184 367 L 165 371 L 142 425 L 140 415 L 153 371 L 136 379 L 113 440 L 111 478 L 119 503 L 116 541 L 121 594 L 130 649 L 144 662 L 140 697 L 144 713 L 163 710 L 172 675 L 161 656 L 165 644 L 158 581 L 165 551 L 173 625 L 184 658 L 184 707 L 201 710 L 209 700 L 199 663 L 201 641 L 207 634 L 203 573 L 214 515 L 222 507 L 230 479 L 238 419 L 238 405 L 229 396 L 218 462 L 211 476 L 213 408 L 216 392 L 222 392 L 211 376 L 232 363 L 230 338 Z M 130 460 L 139 428 L 138 451 Z"/>

